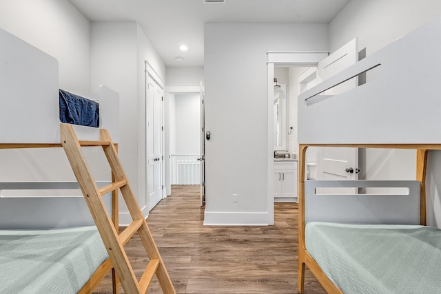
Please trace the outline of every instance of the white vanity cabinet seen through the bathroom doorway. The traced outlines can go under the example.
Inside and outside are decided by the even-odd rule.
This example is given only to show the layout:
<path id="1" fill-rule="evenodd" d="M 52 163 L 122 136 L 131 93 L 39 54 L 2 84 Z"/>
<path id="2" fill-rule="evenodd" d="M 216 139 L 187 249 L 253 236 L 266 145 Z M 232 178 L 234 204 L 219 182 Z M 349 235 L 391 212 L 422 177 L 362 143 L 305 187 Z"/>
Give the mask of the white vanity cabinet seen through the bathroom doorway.
<path id="1" fill-rule="evenodd" d="M 274 161 L 274 202 L 297 202 L 297 161 Z"/>

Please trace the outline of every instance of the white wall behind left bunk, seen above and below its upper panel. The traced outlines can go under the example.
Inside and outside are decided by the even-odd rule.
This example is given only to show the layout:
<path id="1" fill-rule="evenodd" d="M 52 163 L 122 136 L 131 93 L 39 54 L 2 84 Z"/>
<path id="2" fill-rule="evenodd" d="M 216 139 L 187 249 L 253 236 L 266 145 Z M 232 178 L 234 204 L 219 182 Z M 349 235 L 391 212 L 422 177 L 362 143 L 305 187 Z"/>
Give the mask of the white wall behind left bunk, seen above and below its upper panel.
<path id="1" fill-rule="evenodd" d="M 54 56 L 59 87 L 90 91 L 90 23 L 70 1 L 3 0 L 0 28 Z M 1 180 L 74 180 L 63 149 L 2 150 L 0 161 Z"/>

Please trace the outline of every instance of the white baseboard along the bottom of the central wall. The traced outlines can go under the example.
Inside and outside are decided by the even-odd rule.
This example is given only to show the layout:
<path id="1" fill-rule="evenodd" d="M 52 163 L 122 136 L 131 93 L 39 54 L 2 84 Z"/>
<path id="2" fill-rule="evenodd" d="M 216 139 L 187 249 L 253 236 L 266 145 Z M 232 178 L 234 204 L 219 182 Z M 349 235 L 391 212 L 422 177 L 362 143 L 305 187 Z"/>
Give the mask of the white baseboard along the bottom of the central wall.
<path id="1" fill-rule="evenodd" d="M 267 226 L 267 212 L 207 212 L 205 226 Z"/>

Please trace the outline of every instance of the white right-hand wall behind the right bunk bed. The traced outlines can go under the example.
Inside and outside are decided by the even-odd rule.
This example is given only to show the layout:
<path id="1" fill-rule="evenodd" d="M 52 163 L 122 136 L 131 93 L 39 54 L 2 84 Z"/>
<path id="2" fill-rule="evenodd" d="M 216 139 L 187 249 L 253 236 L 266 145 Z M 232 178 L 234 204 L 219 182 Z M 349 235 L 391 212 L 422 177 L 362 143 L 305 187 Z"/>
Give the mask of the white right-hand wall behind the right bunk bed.
<path id="1" fill-rule="evenodd" d="M 352 0 L 329 23 L 329 45 L 334 51 L 358 37 L 360 50 L 366 48 L 369 56 L 440 14 L 438 0 Z M 415 151 L 367 149 L 365 156 L 367 179 L 415 179 Z M 441 176 L 435 170 L 441 165 L 440 151 L 433 151 L 429 159 L 427 220 L 441 227 Z"/>

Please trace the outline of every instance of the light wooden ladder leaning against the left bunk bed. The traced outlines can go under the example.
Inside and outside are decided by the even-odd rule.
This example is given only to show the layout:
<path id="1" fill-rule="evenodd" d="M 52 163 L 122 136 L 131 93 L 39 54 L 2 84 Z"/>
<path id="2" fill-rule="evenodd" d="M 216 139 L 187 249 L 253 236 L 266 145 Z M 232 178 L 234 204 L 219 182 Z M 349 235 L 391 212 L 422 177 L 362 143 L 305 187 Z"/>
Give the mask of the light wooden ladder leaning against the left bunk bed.
<path id="1" fill-rule="evenodd" d="M 147 293 L 154 274 L 156 274 L 163 293 L 176 293 L 158 248 L 154 243 L 152 233 L 147 226 L 147 222 L 145 222 L 143 213 L 130 188 L 127 176 L 119 161 L 116 147 L 112 143 L 107 129 L 100 129 L 99 141 L 79 141 L 76 138 L 72 125 L 62 123 L 61 145 L 63 145 L 65 153 L 68 156 L 76 180 L 79 182 L 85 201 L 88 204 L 90 213 L 92 213 L 96 227 L 103 239 L 103 243 L 107 249 L 107 253 L 109 253 L 110 260 L 121 282 L 121 286 L 123 286 L 124 292 Z M 101 188 L 96 187 L 95 180 L 90 173 L 90 169 L 81 151 L 81 147 L 83 146 L 103 147 L 114 178 L 110 185 Z M 117 191 L 118 189 L 121 191 L 127 204 L 127 209 L 133 219 L 133 222 L 121 234 L 118 233 L 119 228 L 114 226 L 102 199 L 102 196 L 106 193 Z M 145 252 L 150 260 L 139 281 L 136 279 L 123 247 L 136 232 L 139 233 Z"/>

